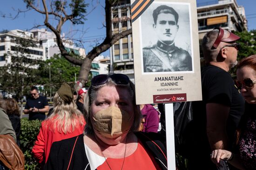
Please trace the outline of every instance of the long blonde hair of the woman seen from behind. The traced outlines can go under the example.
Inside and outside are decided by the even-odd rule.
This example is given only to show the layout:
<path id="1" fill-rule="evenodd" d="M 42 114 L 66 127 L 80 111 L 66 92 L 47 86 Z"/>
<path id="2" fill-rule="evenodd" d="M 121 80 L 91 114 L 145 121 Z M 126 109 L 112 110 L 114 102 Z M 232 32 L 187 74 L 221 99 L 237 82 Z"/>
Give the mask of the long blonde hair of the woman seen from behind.
<path id="1" fill-rule="evenodd" d="M 77 109 L 77 106 L 73 101 L 70 103 L 65 102 L 61 99 L 58 93 L 54 95 L 54 110 L 46 121 L 46 126 L 52 131 L 59 133 L 71 133 L 74 132 L 77 126 L 82 126 L 83 115 Z"/>

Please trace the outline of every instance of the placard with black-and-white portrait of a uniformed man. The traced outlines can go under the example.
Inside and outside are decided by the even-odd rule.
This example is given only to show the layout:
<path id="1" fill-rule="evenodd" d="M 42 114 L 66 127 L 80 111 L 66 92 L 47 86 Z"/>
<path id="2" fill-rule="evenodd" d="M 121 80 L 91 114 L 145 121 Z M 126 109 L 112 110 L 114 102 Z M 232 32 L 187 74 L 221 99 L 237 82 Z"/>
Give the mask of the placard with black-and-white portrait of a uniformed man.
<path id="1" fill-rule="evenodd" d="M 202 100 L 195 0 L 131 0 L 136 103 Z"/>

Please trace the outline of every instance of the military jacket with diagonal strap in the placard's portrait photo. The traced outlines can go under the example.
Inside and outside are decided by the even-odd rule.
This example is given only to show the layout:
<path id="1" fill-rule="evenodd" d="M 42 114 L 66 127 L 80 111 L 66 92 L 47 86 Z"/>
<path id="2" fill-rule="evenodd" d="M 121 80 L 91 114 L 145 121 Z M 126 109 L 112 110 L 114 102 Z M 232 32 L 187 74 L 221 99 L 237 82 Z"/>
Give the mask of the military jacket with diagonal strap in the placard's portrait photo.
<path id="1" fill-rule="evenodd" d="M 158 41 L 152 47 L 143 48 L 144 72 L 192 71 L 192 59 L 188 51 Z"/>

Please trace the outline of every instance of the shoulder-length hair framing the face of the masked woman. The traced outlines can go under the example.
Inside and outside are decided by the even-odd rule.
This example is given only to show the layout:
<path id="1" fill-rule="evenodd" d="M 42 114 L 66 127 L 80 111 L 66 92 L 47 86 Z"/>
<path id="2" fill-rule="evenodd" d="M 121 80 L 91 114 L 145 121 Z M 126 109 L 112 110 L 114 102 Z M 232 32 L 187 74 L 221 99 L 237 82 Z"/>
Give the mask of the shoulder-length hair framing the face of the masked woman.
<path id="1" fill-rule="evenodd" d="M 129 91 L 129 94 L 132 97 L 133 100 L 133 106 L 134 106 L 134 122 L 133 125 L 130 129 L 130 132 L 135 132 L 138 131 L 138 128 L 140 126 L 141 123 L 141 110 L 139 105 L 136 105 L 135 102 L 135 85 L 130 81 L 128 85 L 121 85 L 121 84 L 116 84 L 110 77 L 108 78 L 108 82 L 106 82 L 105 84 L 102 85 L 98 85 L 98 86 L 90 86 L 88 88 L 87 93 L 85 94 L 85 98 L 84 98 L 84 109 L 85 109 L 85 121 L 86 121 L 86 126 L 85 126 L 85 130 L 84 133 L 88 133 L 88 134 L 92 134 L 94 133 L 93 131 L 93 127 L 92 127 L 92 123 L 90 120 L 90 114 L 91 114 L 91 104 L 92 102 L 95 100 L 96 96 L 97 96 L 97 92 L 100 88 L 104 87 L 104 86 L 118 86 L 118 87 L 122 87 L 124 89 L 127 89 Z"/>

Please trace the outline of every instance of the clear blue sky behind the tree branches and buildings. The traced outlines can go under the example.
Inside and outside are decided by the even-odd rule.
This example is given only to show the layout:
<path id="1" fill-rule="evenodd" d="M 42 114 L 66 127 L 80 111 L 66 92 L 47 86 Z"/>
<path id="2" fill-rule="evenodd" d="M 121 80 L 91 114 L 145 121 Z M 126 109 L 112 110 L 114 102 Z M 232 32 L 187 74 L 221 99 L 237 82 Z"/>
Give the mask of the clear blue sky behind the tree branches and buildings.
<path id="1" fill-rule="evenodd" d="M 94 5 L 95 4 L 94 0 Z M 87 20 L 84 25 L 74 26 L 70 23 L 66 23 L 63 27 L 63 32 L 67 35 L 68 32 L 74 32 L 75 30 L 83 30 L 82 32 L 77 32 L 74 36 L 69 34 L 69 37 L 82 38 L 84 48 L 86 52 L 92 49 L 92 46 L 96 43 L 93 40 L 97 39 L 98 43 L 104 38 L 105 29 L 102 27 L 104 22 L 104 0 L 99 0 L 100 4 L 97 5 L 95 10 L 87 16 Z M 209 3 L 215 0 L 197 0 L 197 3 Z M 86 0 L 86 2 L 91 2 L 91 0 Z M 239 6 L 244 6 L 246 18 L 248 19 L 249 30 L 256 29 L 256 0 L 237 0 Z M 91 6 L 90 6 L 91 7 Z M 6 14 L 6 18 L 0 17 L 0 31 L 2 30 L 26 30 L 31 29 L 34 25 L 43 25 L 44 18 L 41 14 L 34 11 L 27 13 L 20 13 L 16 19 L 10 19 L 8 16 L 11 13 L 13 16 L 17 12 L 14 10 L 26 9 L 26 5 L 23 0 L 2 0 L 0 6 L 0 14 Z M 89 10 L 90 11 L 90 10 Z M 109 50 L 103 53 L 104 56 L 109 56 Z"/>

